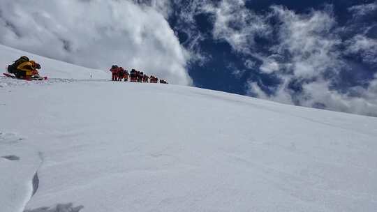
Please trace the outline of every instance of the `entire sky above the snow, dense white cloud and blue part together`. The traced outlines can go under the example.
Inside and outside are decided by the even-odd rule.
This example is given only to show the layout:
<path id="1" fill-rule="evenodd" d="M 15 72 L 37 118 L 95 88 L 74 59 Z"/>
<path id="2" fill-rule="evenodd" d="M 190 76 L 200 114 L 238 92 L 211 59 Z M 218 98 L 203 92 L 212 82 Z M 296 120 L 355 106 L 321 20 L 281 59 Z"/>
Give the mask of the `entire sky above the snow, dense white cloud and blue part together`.
<path id="1" fill-rule="evenodd" d="M 0 31 L 80 66 L 377 116 L 376 0 L 0 0 Z"/>

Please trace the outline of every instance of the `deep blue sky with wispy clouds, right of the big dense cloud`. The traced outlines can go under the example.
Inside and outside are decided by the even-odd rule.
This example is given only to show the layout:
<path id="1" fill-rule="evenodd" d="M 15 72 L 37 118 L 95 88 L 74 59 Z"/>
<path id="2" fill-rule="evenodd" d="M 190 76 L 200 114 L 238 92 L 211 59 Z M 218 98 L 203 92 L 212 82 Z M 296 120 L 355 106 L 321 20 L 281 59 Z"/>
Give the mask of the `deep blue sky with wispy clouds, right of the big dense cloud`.
<path id="1" fill-rule="evenodd" d="M 357 100 L 376 97 L 376 1 L 175 2 L 168 21 L 200 54 L 188 66 L 195 86 L 376 114 Z"/>

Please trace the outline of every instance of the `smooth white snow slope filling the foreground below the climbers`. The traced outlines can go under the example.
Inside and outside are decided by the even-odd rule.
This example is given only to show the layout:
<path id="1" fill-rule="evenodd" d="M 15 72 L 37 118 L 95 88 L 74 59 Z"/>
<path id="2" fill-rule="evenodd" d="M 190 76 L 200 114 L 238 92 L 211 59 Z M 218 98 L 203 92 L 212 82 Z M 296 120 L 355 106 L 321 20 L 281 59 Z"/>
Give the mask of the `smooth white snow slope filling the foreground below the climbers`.
<path id="1" fill-rule="evenodd" d="M 1 212 L 377 209 L 376 118 L 185 86 L 0 82 Z"/>

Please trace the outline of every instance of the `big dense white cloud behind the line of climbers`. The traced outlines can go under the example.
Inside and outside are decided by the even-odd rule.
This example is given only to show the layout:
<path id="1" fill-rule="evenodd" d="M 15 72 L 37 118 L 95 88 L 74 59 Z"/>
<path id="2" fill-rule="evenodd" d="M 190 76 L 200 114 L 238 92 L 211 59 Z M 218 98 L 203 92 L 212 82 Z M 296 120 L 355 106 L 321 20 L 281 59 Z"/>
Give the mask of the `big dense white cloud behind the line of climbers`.
<path id="1" fill-rule="evenodd" d="M 20 50 L 90 68 L 118 63 L 191 84 L 190 55 L 168 22 L 133 1 L 0 0 L 0 31 L 1 43 Z"/>

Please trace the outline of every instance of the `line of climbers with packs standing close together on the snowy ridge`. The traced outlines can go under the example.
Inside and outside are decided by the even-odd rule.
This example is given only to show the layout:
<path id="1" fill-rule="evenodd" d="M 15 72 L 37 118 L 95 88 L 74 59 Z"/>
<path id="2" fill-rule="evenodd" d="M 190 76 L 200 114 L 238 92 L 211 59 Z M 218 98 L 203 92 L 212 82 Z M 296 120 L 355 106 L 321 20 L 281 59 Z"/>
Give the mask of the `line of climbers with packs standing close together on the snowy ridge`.
<path id="1" fill-rule="evenodd" d="M 124 79 L 124 82 L 128 82 L 128 77 L 130 78 L 130 82 L 150 82 L 150 83 L 158 83 L 158 78 L 151 75 L 150 77 L 143 73 L 142 71 L 138 71 L 132 69 L 130 73 L 128 70 L 125 70 L 123 67 L 119 67 L 117 65 L 113 65 L 110 68 L 110 72 L 112 73 L 112 81 L 121 81 Z M 159 81 L 161 84 L 168 84 L 165 79 L 160 79 Z"/>

